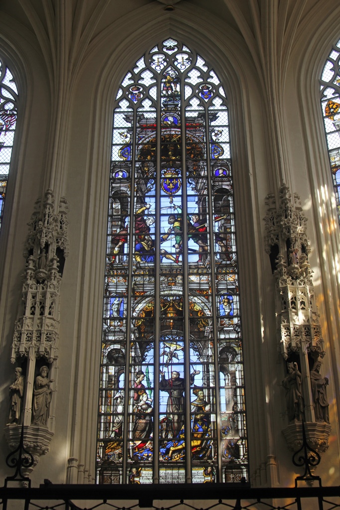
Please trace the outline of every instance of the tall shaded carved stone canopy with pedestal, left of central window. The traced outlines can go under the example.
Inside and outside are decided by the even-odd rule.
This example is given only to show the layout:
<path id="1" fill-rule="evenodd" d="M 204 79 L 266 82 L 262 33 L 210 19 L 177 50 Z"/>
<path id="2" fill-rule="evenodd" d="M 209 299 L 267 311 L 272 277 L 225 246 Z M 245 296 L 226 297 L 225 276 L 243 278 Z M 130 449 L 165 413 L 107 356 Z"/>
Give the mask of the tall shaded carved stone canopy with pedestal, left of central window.
<path id="1" fill-rule="evenodd" d="M 32 471 L 39 456 L 48 451 L 55 427 L 55 393 L 60 325 L 60 286 L 68 255 L 67 200 L 55 203 L 48 189 L 35 203 L 24 247 L 26 267 L 12 342 L 12 363 L 18 363 L 24 389 L 13 396 L 10 423 L 5 436 L 13 449 L 23 424 L 24 448 L 33 455 Z M 45 375 L 41 376 L 41 370 Z M 48 375 L 48 377 L 47 377 Z M 37 393 L 37 379 L 43 388 Z M 50 386 L 51 385 L 51 386 Z M 45 389 L 45 390 L 44 390 Z M 19 390 L 17 390 L 19 391 Z M 15 397 L 15 398 L 14 398 Z M 15 407 L 19 399 L 19 407 Z M 19 409 L 19 411 L 18 411 Z"/>

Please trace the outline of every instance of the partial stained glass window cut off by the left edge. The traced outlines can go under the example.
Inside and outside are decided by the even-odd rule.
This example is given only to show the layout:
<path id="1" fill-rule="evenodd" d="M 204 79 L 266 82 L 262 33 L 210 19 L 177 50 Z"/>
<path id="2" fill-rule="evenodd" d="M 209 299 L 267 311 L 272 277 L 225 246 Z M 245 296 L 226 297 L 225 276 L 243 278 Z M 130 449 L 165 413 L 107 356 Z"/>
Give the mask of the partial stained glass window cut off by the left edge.
<path id="1" fill-rule="evenodd" d="M 0 230 L 17 118 L 18 91 L 13 76 L 0 57 Z"/>

